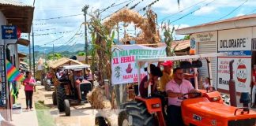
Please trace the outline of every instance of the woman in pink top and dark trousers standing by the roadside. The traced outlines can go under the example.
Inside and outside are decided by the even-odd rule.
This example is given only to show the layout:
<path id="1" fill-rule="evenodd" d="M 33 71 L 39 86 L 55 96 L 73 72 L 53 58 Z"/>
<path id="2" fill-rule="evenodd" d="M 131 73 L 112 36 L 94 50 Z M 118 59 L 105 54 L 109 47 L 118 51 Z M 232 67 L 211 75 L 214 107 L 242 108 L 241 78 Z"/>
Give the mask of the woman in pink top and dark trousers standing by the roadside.
<path id="1" fill-rule="evenodd" d="M 36 80 L 32 77 L 31 72 L 26 72 L 26 79 L 23 81 L 24 85 L 24 91 L 26 95 L 26 105 L 27 105 L 27 110 L 28 110 L 28 103 L 29 103 L 29 109 L 32 110 L 32 95 L 33 95 L 33 90 L 34 86 L 36 85 Z"/>

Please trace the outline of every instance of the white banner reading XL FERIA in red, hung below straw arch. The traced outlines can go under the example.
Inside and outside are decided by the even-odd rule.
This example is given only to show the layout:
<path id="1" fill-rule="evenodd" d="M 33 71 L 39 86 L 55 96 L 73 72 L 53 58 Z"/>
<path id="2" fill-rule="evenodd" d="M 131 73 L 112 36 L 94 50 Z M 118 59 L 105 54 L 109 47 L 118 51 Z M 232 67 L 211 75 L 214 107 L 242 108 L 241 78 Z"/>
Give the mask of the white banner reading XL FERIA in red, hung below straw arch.
<path id="1" fill-rule="evenodd" d="M 157 48 L 141 45 L 122 45 L 112 47 L 111 69 L 112 84 L 136 83 L 137 64 L 136 60 L 149 57 L 165 57 L 166 46 Z M 141 67 L 141 79 L 146 76 L 144 67 Z"/>

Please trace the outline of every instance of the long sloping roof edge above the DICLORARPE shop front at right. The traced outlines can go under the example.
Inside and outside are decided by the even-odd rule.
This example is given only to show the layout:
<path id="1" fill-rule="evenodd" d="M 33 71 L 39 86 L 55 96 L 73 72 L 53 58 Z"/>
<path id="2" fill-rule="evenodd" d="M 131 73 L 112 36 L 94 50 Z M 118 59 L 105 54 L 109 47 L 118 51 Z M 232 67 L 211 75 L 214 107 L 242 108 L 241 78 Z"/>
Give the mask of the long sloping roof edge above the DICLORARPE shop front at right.
<path id="1" fill-rule="evenodd" d="M 176 30 L 178 35 L 188 35 L 205 31 L 217 31 L 233 28 L 246 28 L 256 26 L 256 13 L 240 17 L 232 17 L 225 20 L 217 20 L 206 24 Z"/>

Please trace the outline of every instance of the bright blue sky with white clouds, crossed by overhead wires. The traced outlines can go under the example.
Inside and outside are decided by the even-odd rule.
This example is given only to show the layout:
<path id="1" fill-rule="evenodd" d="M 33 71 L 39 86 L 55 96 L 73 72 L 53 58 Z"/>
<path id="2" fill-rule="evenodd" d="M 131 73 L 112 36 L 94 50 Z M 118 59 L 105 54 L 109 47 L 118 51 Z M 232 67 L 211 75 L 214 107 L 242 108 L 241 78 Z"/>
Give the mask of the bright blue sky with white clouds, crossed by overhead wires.
<path id="1" fill-rule="evenodd" d="M 138 4 L 134 9 L 139 10 L 153 1 L 154 0 L 36 0 L 33 20 L 35 45 L 52 46 L 53 42 L 56 46 L 63 44 L 73 45 L 75 43 L 85 43 L 85 26 L 81 25 L 85 20 L 81 9 L 85 4 L 89 5 L 88 13 L 91 13 L 96 9 L 107 8 L 107 6 L 111 6 L 113 3 L 115 3 L 115 6 L 119 3 L 125 2 L 119 6 L 111 7 L 101 14 L 101 17 L 107 17 L 116 10 L 126 6 L 129 2 L 131 3 L 128 7 L 134 6 L 137 2 L 140 2 L 140 4 Z M 19 2 L 32 5 L 33 0 L 19 0 Z M 220 17 L 224 17 L 228 13 L 230 14 L 223 19 L 256 13 L 256 10 L 254 11 L 255 6 L 255 0 L 180 0 L 180 6 L 178 6 L 177 0 L 159 0 L 152 6 L 152 9 L 158 15 L 158 24 L 161 24 L 161 19 L 169 17 L 168 20 L 170 21 L 176 20 L 175 22 L 172 22 L 175 28 L 178 28 L 178 26 L 179 28 L 185 28 L 218 20 Z M 235 11 L 231 13 L 234 9 Z M 183 10 L 183 12 L 177 13 L 181 10 Z M 143 15 L 145 11 L 140 11 L 139 13 Z M 174 13 L 176 14 L 173 15 Z M 188 15 L 183 17 L 186 14 Z M 65 17 L 69 15 L 78 16 Z M 60 18 L 40 20 L 51 17 Z M 177 20 L 180 17 L 183 18 Z M 89 18 L 90 17 L 88 16 L 87 19 Z M 124 28 L 121 26 L 120 38 L 123 37 L 123 29 Z M 126 30 L 130 35 L 135 35 L 133 24 L 130 24 Z M 136 32 L 138 33 L 139 31 L 140 30 L 137 29 Z M 43 35 L 47 33 L 50 34 Z M 27 38 L 27 34 L 22 34 L 22 36 L 24 39 Z M 183 36 L 177 35 L 177 39 L 180 39 L 181 37 Z"/>

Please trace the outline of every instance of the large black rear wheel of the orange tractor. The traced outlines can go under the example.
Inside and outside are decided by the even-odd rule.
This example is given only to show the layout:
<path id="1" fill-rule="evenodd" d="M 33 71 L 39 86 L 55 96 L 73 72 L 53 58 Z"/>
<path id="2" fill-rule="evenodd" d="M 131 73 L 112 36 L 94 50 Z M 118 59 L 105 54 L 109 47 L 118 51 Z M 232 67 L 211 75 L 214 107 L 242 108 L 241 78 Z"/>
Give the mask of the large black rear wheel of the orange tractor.
<path id="1" fill-rule="evenodd" d="M 122 104 L 119 113 L 119 126 L 154 126 L 155 120 L 143 102 L 127 102 Z"/>

